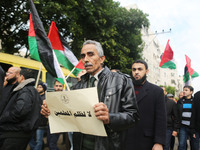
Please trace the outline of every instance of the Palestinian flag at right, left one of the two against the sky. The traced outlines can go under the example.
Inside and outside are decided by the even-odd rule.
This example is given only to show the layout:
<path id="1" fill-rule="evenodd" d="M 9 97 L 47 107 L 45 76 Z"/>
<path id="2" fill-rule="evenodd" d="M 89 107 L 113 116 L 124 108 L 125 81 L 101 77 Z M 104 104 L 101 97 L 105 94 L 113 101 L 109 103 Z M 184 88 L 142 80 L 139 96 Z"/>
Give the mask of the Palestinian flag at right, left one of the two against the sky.
<path id="1" fill-rule="evenodd" d="M 162 55 L 159 67 L 176 69 L 176 64 L 174 63 L 173 55 L 174 55 L 174 53 L 169 45 L 169 40 L 168 40 L 167 45 L 165 47 L 165 51 Z"/>

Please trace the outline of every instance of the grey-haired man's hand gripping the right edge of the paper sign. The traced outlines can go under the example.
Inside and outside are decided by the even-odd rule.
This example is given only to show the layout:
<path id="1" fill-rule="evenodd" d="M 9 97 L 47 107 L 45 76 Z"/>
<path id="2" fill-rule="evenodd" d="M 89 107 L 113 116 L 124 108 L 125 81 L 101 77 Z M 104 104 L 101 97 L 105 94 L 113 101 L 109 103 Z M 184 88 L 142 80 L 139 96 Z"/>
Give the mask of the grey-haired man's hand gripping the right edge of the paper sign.
<path id="1" fill-rule="evenodd" d="M 102 120 L 104 124 L 109 124 L 109 112 L 104 103 L 98 103 L 94 105 L 94 112 L 97 119 Z"/>

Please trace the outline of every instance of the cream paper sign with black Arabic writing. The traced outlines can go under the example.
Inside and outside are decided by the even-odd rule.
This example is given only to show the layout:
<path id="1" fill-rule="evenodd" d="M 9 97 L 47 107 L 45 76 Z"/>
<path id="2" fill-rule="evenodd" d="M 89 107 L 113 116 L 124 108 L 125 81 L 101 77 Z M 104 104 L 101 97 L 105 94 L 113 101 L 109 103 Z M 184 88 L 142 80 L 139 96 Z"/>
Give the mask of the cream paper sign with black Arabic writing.
<path id="1" fill-rule="evenodd" d="M 49 116 L 51 133 L 82 132 L 107 136 L 103 122 L 94 114 L 93 106 L 99 102 L 96 87 L 47 92 L 46 102 L 51 112 Z"/>

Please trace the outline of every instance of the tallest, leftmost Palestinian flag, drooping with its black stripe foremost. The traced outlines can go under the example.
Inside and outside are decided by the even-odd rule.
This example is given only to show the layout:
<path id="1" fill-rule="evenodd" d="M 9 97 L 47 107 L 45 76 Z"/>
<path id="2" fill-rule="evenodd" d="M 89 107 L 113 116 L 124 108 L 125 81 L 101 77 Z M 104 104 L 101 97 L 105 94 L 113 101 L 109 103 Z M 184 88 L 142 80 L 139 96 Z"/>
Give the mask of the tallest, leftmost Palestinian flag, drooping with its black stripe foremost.
<path id="1" fill-rule="evenodd" d="M 31 16 L 32 16 L 32 24 L 33 29 L 35 30 L 35 35 L 33 32 L 29 30 L 30 35 L 35 37 L 36 42 L 35 45 L 37 47 L 39 58 L 45 67 L 45 69 L 54 77 L 57 78 L 65 78 L 64 74 L 60 68 L 56 55 L 54 54 L 53 48 L 51 46 L 51 42 L 49 41 L 46 32 L 44 30 L 43 24 L 39 18 L 38 12 L 33 4 L 32 0 L 29 0 L 31 7 Z M 31 36 L 30 36 L 31 37 Z"/>

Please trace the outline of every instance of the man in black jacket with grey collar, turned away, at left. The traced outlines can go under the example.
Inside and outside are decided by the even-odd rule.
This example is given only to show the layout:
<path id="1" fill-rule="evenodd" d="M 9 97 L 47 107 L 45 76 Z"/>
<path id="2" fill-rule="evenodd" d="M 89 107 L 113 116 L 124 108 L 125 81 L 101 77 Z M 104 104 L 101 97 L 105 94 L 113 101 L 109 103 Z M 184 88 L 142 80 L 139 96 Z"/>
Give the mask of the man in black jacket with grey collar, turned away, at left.
<path id="1" fill-rule="evenodd" d="M 33 87 L 33 72 L 22 69 L 19 85 L 11 92 L 0 115 L 0 149 L 25 150 L 37 128 L 41 97 Z"/>

